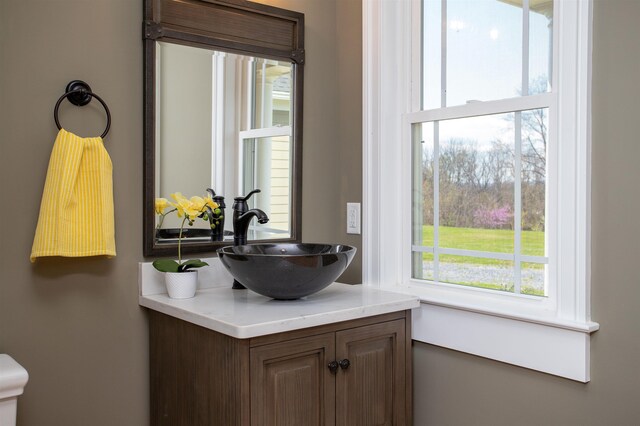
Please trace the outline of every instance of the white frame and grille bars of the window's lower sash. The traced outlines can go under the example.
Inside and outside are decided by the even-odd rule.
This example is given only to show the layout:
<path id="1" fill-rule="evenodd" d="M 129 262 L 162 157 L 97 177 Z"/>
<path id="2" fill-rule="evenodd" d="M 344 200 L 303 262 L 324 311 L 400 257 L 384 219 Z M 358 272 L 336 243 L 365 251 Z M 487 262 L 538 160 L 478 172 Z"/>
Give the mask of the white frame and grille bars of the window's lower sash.
<path id="1" fill-rule="evenodd" d="M 413 126 L 428 123 L 428 122 L 436 122 L 443 120 L 454 120 L 459 118 L 471 118 L 478 117 L 484 115 L 494 115 L 494 114 L 503 114 L 503 113 L 515 113 L 520 114 L 521 111 L 527 111 L 531 109 L 541 109 L 546 108 L 549 111 L 549 120 L 551 121 L 551 116 L 557 110 L 554 102 L 556 101 L 557 96 L 555 93 L 548 92 L 542 94 L 536 94 L 531 96 L 522 96 L 517 98 L 509 98 L 509 99 L 501 99 L 495 101 L 485 101 L 485 102 L 475 102 L 465 105 L 458 105 L 452 107 L 444 107 L 437 108 L 432 110 L 424 110 L 424 111 L 415 111 L 410 112 L 404 115 L 403 120 L 403 138 L 404 141 L 403 151 L 405 152 L 404 157 L 408 159 L 407 164 L 416 164 L 418 161 L 414 156 L 416 155 L 413 148 Z M 516 118 L 516 122 L 519 123 L 518 118 Z M 402 270 L 400 281 L 404 286 L 411 286 L 423 289 L 429 289 L 435 287 L 446 288 L 447 291 L 451 292 L 463 292 L 469 294 L 477 294 L 477 292 L 485 292 L 488 297 L 496 298 L 496 299 L 512 299 L 513 296 L 522 297 L 526 299 L 531 298 L 539 298 L 541 299 L 540 308 L 543 310 L 552 310 L 555 309 L 557 304 L 557 280 L 555 279 L 554 271 L 555 271 L 555 262 L 551 258 L 551 255 L 547 251 L 545 256 L 529 256 L 523 255 L 520 253 L 520 245 L 521 245 L 521 181 L 520 181 L 520 169 L 517 167 L 520 164 L 521 159 L 520 156 L 520 132 L 518 127 L 514 129 L 516 131 L 515 134 L 515 158 L 514 162 L 516 165 L 515 171 L 515 180 L 514 180 L 514 251 L 509 253 L 497 253 L 497 252 L 487 252 L 487 251 L 475 251 L 475 250 L 462 250 L 456 248 L 447 248 L 439 246 L 438 241 L 438 229 L 439 229 L 439 210 L 438 210 L 438 201 L 439 201 L 439 185 L 437 182 L 437 176 L 439 175 L 439 161 L 435 161 L 434 163 L 434 246 L 421 246 L 416 245 L 413 242 L 413 208 L 414 202 L 413 199 L 413 182 L 414 179 L 413 173 L 405 172 L 405 175 L 409 175 L 408 178 L 405 177 L 402 193 L 403 198 L 409 201 L 411 205 L 411 211 L 405 212 L 405 217 L 403 218 L 403 222 L 408 223 L 407 226 L 404 227 L 403 230 L 403 242 L 401 244 L 401 257 L 402 257 Z M 436 127 L 437 128 L 437 127 Z M 549 129 L 548 135 L 548 153 L 547 153 L 547 179 L 545 182 L 546 185 L 546 196 L 545 196 L 545 207 L 546 207 L 546 217 L 551 218 L 554 214 L 556 214 L 557 209 L 555 204 L 553 203 L 553 197 L 549 197 L 549 192 L 554 193 L 553 185 L 555 185 L 555 178 L 553 177 L 551 170 L 549 168 L 549 164 L 554 160 L 556 145 L 552 139 L 551 130 Z M 439 150 L 438 143 L 434 147 L 434 158 L 439 158 Z M 553 223 L 553 220 L 549 222 Z M 553 232 L 553 229 L 550 228 L 547 220 L 545 219 L 545 246 L 548 248 L 553 247 L 556 244 L 556 236 Z M 422 253 L 434 253 L 434 277 L 433 280 L 430 279 L 420 279 L 414 277 L 414 266 L 413 266 L 413 256 L 419 255 Z M 417 254 L 416 254 L 417 253 Z M 470 257 L 480 257 L 480 258 L 488 258 L 488 259 L 499 259 L 499 260 L 507 260 L 514 262 L 514 291 L 513 292 L 505 292 L 505 291 L 497 291 L 491 289 L 484 289 L 475 286 L 466 286 L 459 285 L 456 283 L 450 283 L 447 281 L 440 281 L 438 276 L 438 256 L 439 255 L 458 255 L 458 256 L 470 256 Z M 548 273 L 545 274 L 545 283 L 544 283 L 544 292 L 545 297 L 539 296 L 530 296 L 524 293 L 521 293 L 521 264 L 522 263 L 540 263 L 547 265 Z M 528 303 L 528 302 L 526 302 Z"/>

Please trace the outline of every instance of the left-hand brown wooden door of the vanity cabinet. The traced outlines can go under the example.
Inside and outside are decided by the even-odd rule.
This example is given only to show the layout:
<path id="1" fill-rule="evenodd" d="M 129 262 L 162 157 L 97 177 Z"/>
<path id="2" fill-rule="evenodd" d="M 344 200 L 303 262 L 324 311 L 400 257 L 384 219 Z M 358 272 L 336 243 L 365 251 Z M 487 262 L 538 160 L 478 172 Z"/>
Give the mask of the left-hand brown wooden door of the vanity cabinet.
<path id="1" fill-rule="evenodd" d="M 251 425 L 335 424 L 335 334 L 251 348 Z"/>

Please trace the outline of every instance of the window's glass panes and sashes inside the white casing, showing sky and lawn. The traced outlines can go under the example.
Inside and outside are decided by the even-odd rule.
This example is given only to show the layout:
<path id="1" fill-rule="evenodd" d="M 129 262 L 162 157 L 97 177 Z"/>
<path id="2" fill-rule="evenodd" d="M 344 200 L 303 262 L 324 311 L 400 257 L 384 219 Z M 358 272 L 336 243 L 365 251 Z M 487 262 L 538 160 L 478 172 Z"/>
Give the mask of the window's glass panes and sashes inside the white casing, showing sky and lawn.
<path id="1" fill-rule="evenodd" d="M 422 16 L 411 278 L 547 296 L 553 1 L 424 0 Z"/>

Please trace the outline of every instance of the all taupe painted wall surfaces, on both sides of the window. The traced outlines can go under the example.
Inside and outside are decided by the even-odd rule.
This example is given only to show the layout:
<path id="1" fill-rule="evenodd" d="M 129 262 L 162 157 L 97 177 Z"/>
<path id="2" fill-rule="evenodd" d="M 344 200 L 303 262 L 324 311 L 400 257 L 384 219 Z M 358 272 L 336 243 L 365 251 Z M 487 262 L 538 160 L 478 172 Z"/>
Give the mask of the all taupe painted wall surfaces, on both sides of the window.
<path id="1" fill-rule="evenodd" d="M 303 238 L 344 233 L 361 200 L 361 1 L 273 0 L 306 14 Z M 640 2 L 596 0 L 593 91 L 592 381 L 579 384 L 421 343 L 416 425 L 634 425 L 640 419 Z M 83 21 L 83 18 L 86 21 Z M 141 1 L 0 1 L 0 352 L 31 375 L 20 425 L 148 424 L 142 259 Z M 113 114 L 115 259 L 29 264 L 66 83 L 88 81 Z M 102 111 L 67 105 L 65 127 L 100 132 Z M 96 130 L 97 129 L 97 130 Z M 360 257 L 344 280 L 359 282 Z"/>

